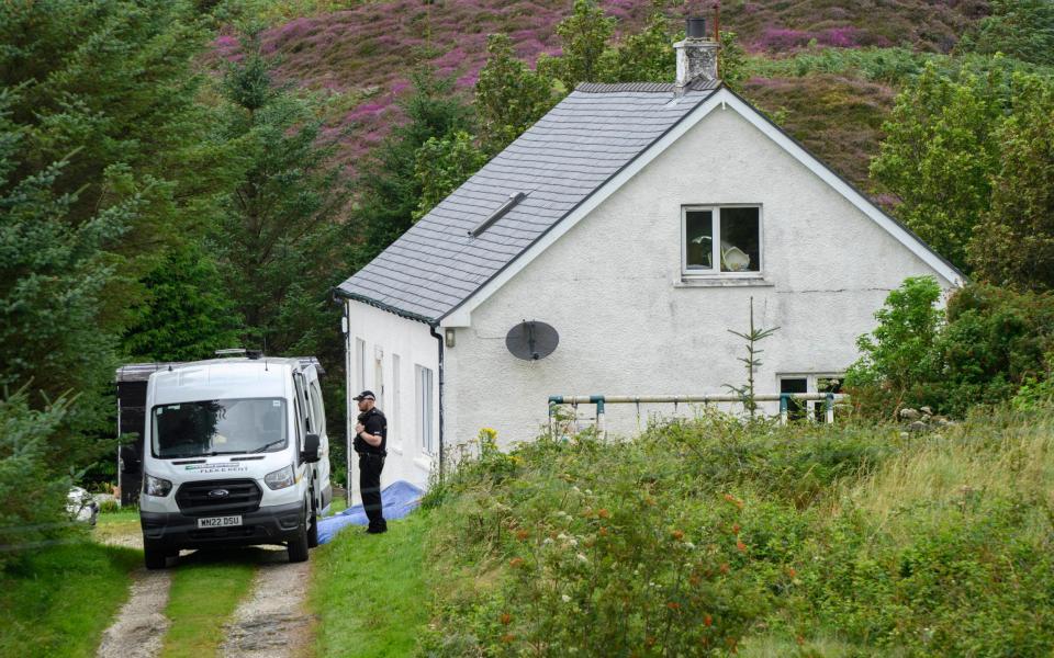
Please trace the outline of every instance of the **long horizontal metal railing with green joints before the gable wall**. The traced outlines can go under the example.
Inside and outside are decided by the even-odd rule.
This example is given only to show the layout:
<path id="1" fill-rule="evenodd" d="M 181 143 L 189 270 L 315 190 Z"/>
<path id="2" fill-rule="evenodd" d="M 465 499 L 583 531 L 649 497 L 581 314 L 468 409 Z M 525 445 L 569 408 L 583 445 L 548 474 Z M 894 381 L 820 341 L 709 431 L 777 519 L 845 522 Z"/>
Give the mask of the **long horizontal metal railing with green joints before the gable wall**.
<path id="1" fill-rule="evenodd" d="M 823 419 L 827 423 L 834 422 L 834 404 L 848 400 L 849 396 L 841 393 L 771 393 L 753 396 L 755 402 L 780 402 L 780 424 L 787 424 L 790 412 L 790 400 L 801 401 L 822 401 Z M 740 402 L 745 400 L 743 396 L 736 394 L 708 394 L 708 395 L 552 395 L 549 396 L 549 432 L 556 434 L 557 430 L 557 407 L 561 405 L 595 405 L 596 406 L 596 431 L 598 434 L 606 432 L 604 416 L 607 405 L 642 405 L 642 404 L 711 404 L 711 402 Z"/>

